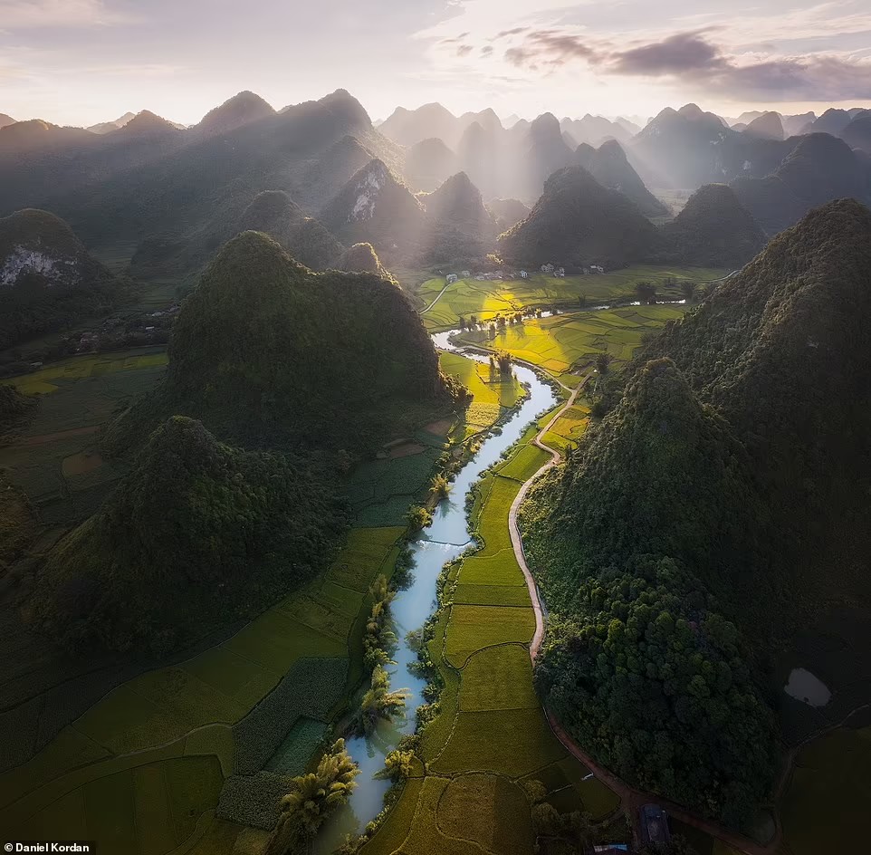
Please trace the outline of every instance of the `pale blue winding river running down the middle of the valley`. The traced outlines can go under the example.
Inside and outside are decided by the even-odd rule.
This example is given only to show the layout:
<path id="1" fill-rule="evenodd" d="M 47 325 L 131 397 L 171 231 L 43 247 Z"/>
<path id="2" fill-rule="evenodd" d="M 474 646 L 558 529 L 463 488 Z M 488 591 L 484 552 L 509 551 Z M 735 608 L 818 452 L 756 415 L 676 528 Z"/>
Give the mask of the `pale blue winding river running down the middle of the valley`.
<path id="1" fill-rule="evenodd" d="M 487 361 L 485 356 L 455 348 L 449 341 L 451 335 L 453 331 L 434 334 L 432 338 L 436 348 L 463 352 L 470 359 Z M 382 722 L 371 735 L 346 740 L 349 754 L 359 764 L 358 786 L 348 806 L 338 812 L 321 831 L 316 848 L 319 855 L 331 852 L 346 834 L 359 833 L 367 822 L 378 816 L 384 793 L 390 784 L 378 780 L 374 775 L 383 768 L 385 756 L 396 748 L 400 737 L 415 730 L 415 711 L 424 703 L 426 679 L 417 677 L 409 670 L 409 666 L 416 662 L 417 655 L 414 648 L 409 647 L 406 637 L 409 631 L 420 629 L 436 610 L 436 580 L 445 562 L 455 559 L 472 543 L 468 533 L 465 495 L 481 472 L 496 463 L 503 451 L 522 437 L 530 422 L 557 403 L 553 390 L 533 370 L 515 365 L 514 374 L 529 389 L 529 398 L 503 424 L 502 433 L 483 441 L 475 456 L 455 477 L 450 494 L 436 505 L 433 524 L 411 544 L 414 580 L 405 590 L 397 593 L 390 607 L 399 643 L 394 656 L 396 665 L 388 669 L 391 688 L 404 688 L 409 693 L 407 714 L 392 722 Z"/>

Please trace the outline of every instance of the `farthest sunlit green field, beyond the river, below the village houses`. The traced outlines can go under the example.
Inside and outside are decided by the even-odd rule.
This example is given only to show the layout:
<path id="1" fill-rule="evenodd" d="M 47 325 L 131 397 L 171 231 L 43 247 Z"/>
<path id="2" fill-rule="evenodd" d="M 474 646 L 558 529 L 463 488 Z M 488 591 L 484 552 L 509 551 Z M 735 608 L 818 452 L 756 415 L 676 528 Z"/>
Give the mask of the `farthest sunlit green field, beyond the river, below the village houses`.
<path id="1" fill-rule="evenodd" d="M 526 307 L 563 306 L 579 307 L 581 298 L 586 305 L 608 303 L 622 297 L 635 299 L 638 282 L 657 283 L 657 292 L 670 299 L 680 299 L 680 282 L 695 283 L 719 279 L 728 270 L 705 267 L 664 267 L 638 264 L 603 275 L 566 276 L 558 279 L 544 274 L 531 274 L 529 279 L 506 282 L 478 282 L 460 279 L 449 285 L 438 302 L 422 317 L 429 330 L 449 330 L 457 326 L 460 317 L 475 315 L 487 321 L 497 314 L 517 312 Z M 671 283 L 675 280 L 675 283 Z M 445 277 L 428 279 L 413 289 L 423 307 L 429 306 L 445 288 Z"/>

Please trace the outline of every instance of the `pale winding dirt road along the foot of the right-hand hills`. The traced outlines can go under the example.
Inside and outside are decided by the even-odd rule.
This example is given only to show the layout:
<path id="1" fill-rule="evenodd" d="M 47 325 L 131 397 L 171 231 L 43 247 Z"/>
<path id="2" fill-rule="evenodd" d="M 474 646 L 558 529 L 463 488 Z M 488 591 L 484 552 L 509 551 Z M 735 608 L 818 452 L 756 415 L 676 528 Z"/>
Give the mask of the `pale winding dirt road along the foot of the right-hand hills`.
<path id="1" fill-rule="evenodd" d="M 731 274 L 730 274 L 731 275 Z M 528 363 L 527 363 L 528 364 Z M 558 381 L 559 382 L 559 381 Z M 514 557 L 517 559 L 517 563 L 520 564 L 520 568 L 523 572 L 523 576 L 526 579 L 526 586 L 529 589 L 530 599 L 532 601 L 532 609 L 535 612 L 535 632 L 532 635 L 532 640 L 530 642 L 530 658 L 532 662 L 535 662 L 535 659 L 538 658 L 539 652 L 541 651 L 541 642 L 544 639 L 544 609 L 541 604 L 541 596 L 538 591 L 538 587 L 535 584 L 535 579 L 532 577 L 532 573 L 530 571 L 529 565 L 526 562 L 526 553 L 523 551 L 523 542 L 521 538 L 520 528 L 517 524 L 517 514 L 520 510 L 520 506 L 523 504 L 523 500 L 526 498 L 527 493 L 531 486 L 534 484 L 538 478 L 544 475 L 549 469 L 553 466 L 557 466 L 562 460 L 562 455 L 556 448 L 551 448 L 546 445 L 543 441 L 545 434 L 553 427 L 554 423 L 558 418 L 569 409 L 578 398 L 579 392 L 584 388 L 584 383 L 581 383 L 577 389 L 572 389 L 569 399 L 566 403 L 560 407 L 556 413 L 554 413 L 553 418 L 541 428 L 541 430 L 536 434 L 536 436 L 532 439 L 532 444 L 536 447 L 541 448 L 543 451 L 547 451 L 550 454 L 550 461 L 546 463 L 544 466 L 541 466 L 539 469 L 529 480 L 524 482 L 521 487 L 520 492 L 515 497 L 512 502 L 511 510 L 508 514 L 508 529 L 511 534 L 512 547 L 514 549 Z M 563 389 L 569 390 L 569 387 L 564 386 L 560 383 L 560 386 Z M 734 834 L 732 831 L 727 831 L 723 829 L 721 826 L 717 825 L 715 822 L 704 819 L 704 817 L 697 816 L 696 814 L 687 811 L 685 808 L 681 807 L 681 805 L 676 804 L 675 802 L 669 802 L 666 799 L 661 798 L 660 796 L 654 793 L 643 793 L 640 790 L 636 790 L 631 787 L 621 778 L 618 778 L 617 775 L 608 772 L 607 769 L 604 769 L 600 766 L 592 757 L 589 756 L 586 752 L 582 751 L 578 745 L 572 740 L 570 735 L 566 733 L 563 729 L 562 725 L 558 721 L 556 721 L 553 716 L 550 715 L 547 709 L 544 710 L 544 715 L 548 720 L 548 724 L 550 725 L 550 730 L 553 732 L 553 735 L 560 740 L 560 743 L 563 747 L 569 751 L 576 759 L 578 759 L 582 764 L 587 766 L 590 772 L 596 775 L 596 777 L 603 783 L 605 783 L 611 790 L 613 790 L 620 798 L 620 802 L 623 807 L 625 807 L 632 818 L 632 826 L 633 826 L 633 834 L 638 839 L 638 812 L 642 805 L 647 802 L 656 802 L 665 808 L 665 810 L 675 819 L 684 822 L 686 825 L 694 826 L 694 828 L 699 829 L 700 831 L 704 831 L 707 834 L 710 834 L 712 837 L 719 838 L 724 843 L 727 843 L 733 849 L 738 850 L 739 852 L 743 852 L 744 855 L 774 855 L 777 850 L 780 848 L 780 841 L 782 839 L 782 829 L 780 827 L 780 816 L 778 812 L 774 812 L 774 820 L 775 820 L 775 834 L 771 841 L 765 845 L 757 843 L 755 841 L 751 841 L 750 839 L 743 837 L 740 834 Z M 785 780 L 788 776 L 789 770 L 791 768 L 791 764 L 787 767 L 786 772 L 780 781 L 779 789 L 782 789 Z"/>

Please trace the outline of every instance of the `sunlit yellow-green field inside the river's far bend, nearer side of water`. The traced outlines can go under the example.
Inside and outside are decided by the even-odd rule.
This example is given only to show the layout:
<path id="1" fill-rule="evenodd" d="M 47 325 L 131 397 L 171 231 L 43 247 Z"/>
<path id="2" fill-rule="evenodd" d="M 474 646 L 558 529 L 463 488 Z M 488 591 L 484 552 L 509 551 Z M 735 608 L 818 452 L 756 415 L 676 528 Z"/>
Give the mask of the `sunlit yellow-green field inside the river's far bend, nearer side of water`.
<path id="1" fill-rule="evenodd" d="M 487 331 L 466 332 L 461 341 L 508 351 L 560 377 L 589 366 L 603 351 L 608 351 L 617 366 L 627 362 L 646 333 L 677 320 L 684 311 L 683 306 L 653 305 L 573 312 L 508 326 L 493 339 Z"/>

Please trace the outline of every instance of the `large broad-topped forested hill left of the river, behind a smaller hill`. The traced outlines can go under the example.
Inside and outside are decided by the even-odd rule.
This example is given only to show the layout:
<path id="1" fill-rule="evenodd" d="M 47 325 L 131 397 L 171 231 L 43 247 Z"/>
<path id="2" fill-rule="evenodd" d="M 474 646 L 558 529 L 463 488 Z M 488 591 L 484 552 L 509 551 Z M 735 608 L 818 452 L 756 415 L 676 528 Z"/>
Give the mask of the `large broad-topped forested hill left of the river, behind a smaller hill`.
<path id="1" fill-rule="evenodd" d="M 183 303 L 163 387 L 114 435 L 155 414 L 183 414 L 222 438 L 352 449 L 387 426 L 385 399 L 448 398 L 432 342 L 395 283 L 315 274 L 271 238 L 245 232 Z"/>

